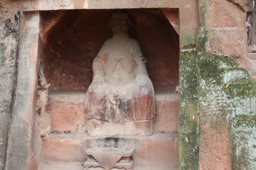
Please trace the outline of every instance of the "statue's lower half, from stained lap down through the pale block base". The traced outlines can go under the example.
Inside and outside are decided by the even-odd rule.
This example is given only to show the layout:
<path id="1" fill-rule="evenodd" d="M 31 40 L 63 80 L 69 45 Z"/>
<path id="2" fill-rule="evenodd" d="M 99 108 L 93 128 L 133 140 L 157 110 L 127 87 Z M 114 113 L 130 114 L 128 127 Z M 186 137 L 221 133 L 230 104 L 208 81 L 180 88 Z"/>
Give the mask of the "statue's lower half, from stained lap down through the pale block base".
<path id="1" fill-rule="evenodd" d="M 153 86 L 135 79 L 119 85 L 104 83 L 88 90 L 85 111 L 90 135 L 151 134 Z"/>

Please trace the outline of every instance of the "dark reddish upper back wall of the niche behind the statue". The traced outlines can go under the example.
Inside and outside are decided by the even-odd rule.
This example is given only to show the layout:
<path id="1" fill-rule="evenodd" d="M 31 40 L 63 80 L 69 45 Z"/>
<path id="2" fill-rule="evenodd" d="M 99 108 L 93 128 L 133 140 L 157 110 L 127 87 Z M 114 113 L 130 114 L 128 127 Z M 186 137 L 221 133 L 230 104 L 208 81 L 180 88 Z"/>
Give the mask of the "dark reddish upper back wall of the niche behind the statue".
<path id="1" fill-rule="evenodd" d="M 160 9 L 125 9 L 134 26 L 129 36 L 140 43 L 156 90 L 179 84 L 179 35 Z M 177 12 L 177 10 L 173 10 Z M 87 90 L 92 62 L 113 33 L 108 22 L 117 10 L 41 11 L 39 59 L 52 85 L 49 91 Z"/>

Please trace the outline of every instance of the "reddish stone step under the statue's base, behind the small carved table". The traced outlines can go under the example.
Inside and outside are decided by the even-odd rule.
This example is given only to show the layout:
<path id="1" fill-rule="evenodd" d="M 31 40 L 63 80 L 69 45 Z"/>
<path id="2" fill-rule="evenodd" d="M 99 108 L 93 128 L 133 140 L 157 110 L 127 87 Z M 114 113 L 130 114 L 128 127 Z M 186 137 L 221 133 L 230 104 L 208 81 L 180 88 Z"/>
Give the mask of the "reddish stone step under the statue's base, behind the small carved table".
<path id="1" fill-rule="evenodd" d="M 44 162 L 82 162 L 90 147 L 122 145 L 135 148 L 136 166 L 177 166 L 178 133 L 154 133 L 150 136 L 95 136 L 84 133 L 50 134 L 42 141 Z"/>

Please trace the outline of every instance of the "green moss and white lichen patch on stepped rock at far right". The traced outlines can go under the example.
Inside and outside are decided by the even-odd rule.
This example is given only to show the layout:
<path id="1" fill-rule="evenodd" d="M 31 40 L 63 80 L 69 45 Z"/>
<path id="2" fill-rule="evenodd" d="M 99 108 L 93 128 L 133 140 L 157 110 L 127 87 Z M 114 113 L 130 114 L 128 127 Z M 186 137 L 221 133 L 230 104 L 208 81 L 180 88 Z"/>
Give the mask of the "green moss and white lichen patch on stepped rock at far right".
<path id="1" fill-rule="evenodd" d="M 231 58 L 199 55 L 198 70 L 202 119 L 228 127 L 234 169 L 255 169 L 256 85 Z"/>

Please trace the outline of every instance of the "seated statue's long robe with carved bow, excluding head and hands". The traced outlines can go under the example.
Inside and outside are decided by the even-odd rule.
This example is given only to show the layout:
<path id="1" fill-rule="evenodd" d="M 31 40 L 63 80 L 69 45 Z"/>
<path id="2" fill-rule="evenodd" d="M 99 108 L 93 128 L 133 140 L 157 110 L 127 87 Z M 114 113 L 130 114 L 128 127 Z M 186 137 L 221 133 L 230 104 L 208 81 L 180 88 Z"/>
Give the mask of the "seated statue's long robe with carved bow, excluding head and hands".
<path id="1" fill-rule="evenodd" d="M 103 80 L 92 90 L 89 87 L 85 112 L 87 119 L 124 123 L 150 120 L 155 114 L 155 93 L 148 78 L 146 59 L 140 44 L 129 38 L 123 47 L 108 39 L 93 61 L 93 81 Z M 145 75 L 148 83 L 137 83 L 137 75 Z M 92 81 L 92 82 L 93 82 Z"/>

